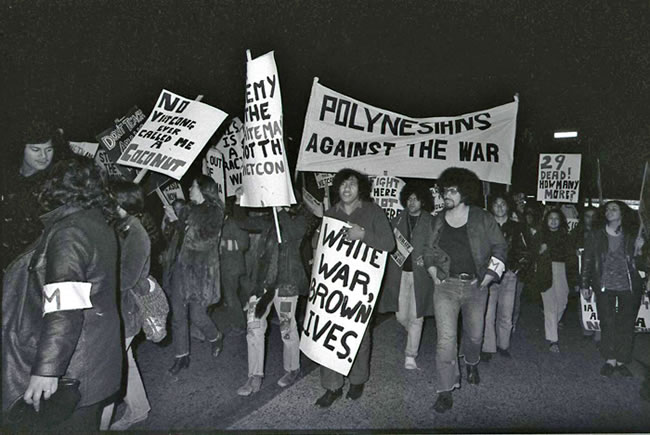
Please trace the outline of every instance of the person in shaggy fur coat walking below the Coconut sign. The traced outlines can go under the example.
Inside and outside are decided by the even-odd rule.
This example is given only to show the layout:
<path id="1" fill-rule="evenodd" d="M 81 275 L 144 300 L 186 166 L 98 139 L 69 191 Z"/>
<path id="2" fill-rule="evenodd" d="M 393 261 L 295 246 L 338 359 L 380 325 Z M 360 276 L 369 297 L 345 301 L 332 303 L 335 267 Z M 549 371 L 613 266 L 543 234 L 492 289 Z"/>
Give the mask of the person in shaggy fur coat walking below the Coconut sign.
<path id="1" fill-rule="evenodd" d="M 221 278 L 219 243 L 223 203 L 218 186 L 207 175 L 197 175 L 190 187 L 185 231 L 171 276 L 172 338 L 176 357 L 169 373 L 190 365 L 190 322 L 212 343 L 215 358 L 223 348 L 223 334 L 207 313 L 219 302 Z"/>

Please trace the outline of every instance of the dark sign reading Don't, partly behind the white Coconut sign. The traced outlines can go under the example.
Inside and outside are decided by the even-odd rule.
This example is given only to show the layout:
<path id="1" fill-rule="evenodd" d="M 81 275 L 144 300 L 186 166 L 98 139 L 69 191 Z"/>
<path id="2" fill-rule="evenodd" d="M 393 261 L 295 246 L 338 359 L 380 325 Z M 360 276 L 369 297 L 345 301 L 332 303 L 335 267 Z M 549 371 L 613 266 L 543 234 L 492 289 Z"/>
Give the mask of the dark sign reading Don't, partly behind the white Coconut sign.
<path id="1" fill-rule="evenodd" d="M 126 147 L 129 145 L 138 129 L 144 124 L 147 116 L 137 107 L 132 107 L 122 118 L 116 119 L 112 127 L 99 133 L 96 138 L 103 151 L 99 157 L 101 165 L 111 177 L 121 177 L 133 180 L 136 171 L 122 165 L 115 165 Z M 106 165 L 111 165 L 108 169 Z M 116 172 L 118 171 L 118 172 Z"/>

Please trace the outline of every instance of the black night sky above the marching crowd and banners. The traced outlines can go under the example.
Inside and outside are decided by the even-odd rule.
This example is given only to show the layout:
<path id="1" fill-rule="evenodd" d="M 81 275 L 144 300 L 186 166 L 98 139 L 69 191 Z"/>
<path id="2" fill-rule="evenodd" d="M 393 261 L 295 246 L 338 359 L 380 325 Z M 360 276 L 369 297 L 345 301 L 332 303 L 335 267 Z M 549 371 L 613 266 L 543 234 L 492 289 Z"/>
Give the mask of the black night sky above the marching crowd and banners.
<path id="1" fill-rule="evenodd" d="M 520 95 L 513 184 L 533 193 L 537 153 L 600 156 L 605 196 L 638 197 L 650 156 L 650 2 L 0 2 L 4 147 L 51 117 L 91 140 L 161 88 L 241 116 L 245 50 L 275 50 L 289 152 L 312 79 L 416 117 Z M 557 145 L 555 128 L 578 128 Z M 583 163 L 587 171 L 588 163 Z M 589 189 L 588 180 L 583 188 Z"/>

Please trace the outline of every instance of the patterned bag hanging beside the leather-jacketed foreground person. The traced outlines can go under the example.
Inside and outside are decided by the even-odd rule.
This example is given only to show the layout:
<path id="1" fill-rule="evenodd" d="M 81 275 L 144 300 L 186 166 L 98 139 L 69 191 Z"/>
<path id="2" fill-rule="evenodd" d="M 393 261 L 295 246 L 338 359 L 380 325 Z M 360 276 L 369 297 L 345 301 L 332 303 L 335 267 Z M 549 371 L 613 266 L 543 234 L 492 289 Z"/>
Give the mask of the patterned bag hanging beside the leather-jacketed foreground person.
<path id="1" fill-rule="evenodd" d="M 146 294 L 137 294 L 133 290 L 131 293 L 140 310 L 142 329 L 147 340 L 158 343 L 167 335 L 169 303 L 158 281 L 152 276 L 149 276 L 147 280 L 149 281 L 149 291 Z"/>

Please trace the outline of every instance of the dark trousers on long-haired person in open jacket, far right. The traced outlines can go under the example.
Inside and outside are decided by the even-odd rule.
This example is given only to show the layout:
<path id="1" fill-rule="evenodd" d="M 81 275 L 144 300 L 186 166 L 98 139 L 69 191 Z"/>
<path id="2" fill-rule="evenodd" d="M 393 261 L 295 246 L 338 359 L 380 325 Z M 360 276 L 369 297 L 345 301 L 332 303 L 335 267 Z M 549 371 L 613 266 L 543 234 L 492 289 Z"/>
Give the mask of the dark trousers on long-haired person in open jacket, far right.
<path id="1" fill-rule="evenodd" d="M 641 298 L 631 291 L 596 292 L 596 304 L 602 331 L 600 354 L 605 359 L 629 363 L 632 361 L 634 324 Z"/>

